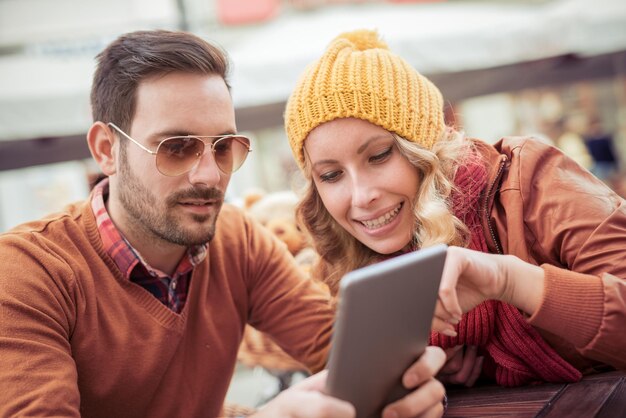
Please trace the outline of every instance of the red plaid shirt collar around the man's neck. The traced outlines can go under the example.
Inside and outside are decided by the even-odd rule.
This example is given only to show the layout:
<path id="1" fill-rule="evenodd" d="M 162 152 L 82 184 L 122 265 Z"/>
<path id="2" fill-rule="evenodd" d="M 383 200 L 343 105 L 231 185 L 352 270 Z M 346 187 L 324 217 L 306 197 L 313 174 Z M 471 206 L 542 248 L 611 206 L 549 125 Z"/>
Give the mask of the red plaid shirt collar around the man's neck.
<path id="1" fill-rule="evenodd" d="M 169 278 L 162 271 L 151 267 L 137 252 L 130 243 L 120 234 L 117 227 L 109 217 L 104 204 L 105 198 L 109 194 L 109 179 L 99 182 L 93 190 L 91 199 L 91 209 L 96 217 L 98 232 L 102 239 L 104 250 L 111 256 L 117 267 L 124 274 L 126 279 L 131 279 L 131 274 L 137 266 L 153 277 Z M 183 257 L 172 277 L 180 277 L 189 273 L 195 266 L 200 264 L 207 255 L 207 244 L 195 245 L 187 249 L 187 256 Z"/>

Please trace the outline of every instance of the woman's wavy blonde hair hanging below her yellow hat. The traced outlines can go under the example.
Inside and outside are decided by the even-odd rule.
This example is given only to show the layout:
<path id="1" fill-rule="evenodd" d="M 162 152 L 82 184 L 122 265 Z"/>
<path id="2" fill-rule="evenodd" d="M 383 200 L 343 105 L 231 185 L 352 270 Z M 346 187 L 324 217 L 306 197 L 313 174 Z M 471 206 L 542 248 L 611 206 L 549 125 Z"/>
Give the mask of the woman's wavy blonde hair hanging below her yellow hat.
<path id="1" fill-rule="evenodd" d="M 398 135 L 393 136 L 400 152 L 420 175 L 413 208 L 415 231 L 412 247 L 425 248 L 441 243 L 466 246 L 469 231 L 453 214 L 450 197 L 455 190 L 453 180 L 457 168 L 464 157 L 473 153 L 471 141 L 466 140 L 463 133 L 447 128 L 433 148 L 426 150 Z M 336 294 L 344 274 L 388 256 L 363 245 L 333 219 L 317 192 L 306 157 L 303 174 L 305 182 L 300 190 L 302 198 L 296 214 L 299 222 L 309 231 L 320 256 L 312 275 Z"/>

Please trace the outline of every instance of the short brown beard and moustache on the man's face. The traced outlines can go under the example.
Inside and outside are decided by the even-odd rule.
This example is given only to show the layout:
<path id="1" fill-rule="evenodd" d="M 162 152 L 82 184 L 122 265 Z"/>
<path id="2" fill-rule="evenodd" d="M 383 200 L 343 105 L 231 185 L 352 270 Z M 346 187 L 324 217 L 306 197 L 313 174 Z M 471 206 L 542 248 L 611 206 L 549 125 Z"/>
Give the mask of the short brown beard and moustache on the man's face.
<path id="1" fill-rule="evenodd" d="M 223 193 L 215 188 L 190 187 L 187 190 L 176 192 L 164 201 L 157 199 L 132 172 L 126 158 L 125 145 L 120 152 L 120 178 L 118 181 L 119 198 L 122 207 L 136 225 L 129 225 L 135 230 L 150 232 L 153 236 L 164 241 L 193 246 L 205 244 L 215 235 L 217 215 L 224 201 Z M 181 200 L 217 200 L 215 211 L 207 215 L 192 215 L 196 226 L 185 228 L 184 219 L 175 216 L 174 209 Z"/>

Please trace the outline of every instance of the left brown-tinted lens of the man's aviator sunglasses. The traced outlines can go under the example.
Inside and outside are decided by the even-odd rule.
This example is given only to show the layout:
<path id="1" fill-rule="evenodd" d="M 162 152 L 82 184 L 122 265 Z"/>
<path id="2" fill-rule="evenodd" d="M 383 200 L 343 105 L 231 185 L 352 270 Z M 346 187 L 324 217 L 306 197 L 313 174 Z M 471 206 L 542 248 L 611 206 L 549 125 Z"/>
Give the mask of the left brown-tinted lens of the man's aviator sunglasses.
<path id="1" fill-rule="evenodd" d="M 194 137 L 174 137 L 161 142 L 156 164 L 166 176 L 178 176 L 191 169 L 204 152 L 204 142 Z"/>

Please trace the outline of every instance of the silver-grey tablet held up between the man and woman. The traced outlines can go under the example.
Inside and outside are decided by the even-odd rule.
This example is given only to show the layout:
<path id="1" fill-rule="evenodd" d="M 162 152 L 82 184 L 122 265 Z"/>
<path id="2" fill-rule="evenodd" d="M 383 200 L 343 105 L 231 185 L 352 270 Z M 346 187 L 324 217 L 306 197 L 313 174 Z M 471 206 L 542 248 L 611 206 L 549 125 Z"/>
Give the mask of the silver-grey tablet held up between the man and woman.
<path id="1" fill-rule="evenodd" d="M 341 280 L 326 391 L 352 403 L 357 418 L 380 417 L 408 393 L 402 375 L 428 344 L 446 250 L 403 254 Z"/>

